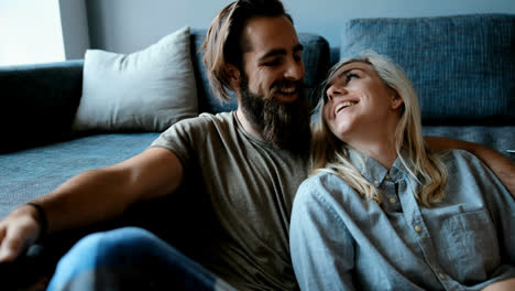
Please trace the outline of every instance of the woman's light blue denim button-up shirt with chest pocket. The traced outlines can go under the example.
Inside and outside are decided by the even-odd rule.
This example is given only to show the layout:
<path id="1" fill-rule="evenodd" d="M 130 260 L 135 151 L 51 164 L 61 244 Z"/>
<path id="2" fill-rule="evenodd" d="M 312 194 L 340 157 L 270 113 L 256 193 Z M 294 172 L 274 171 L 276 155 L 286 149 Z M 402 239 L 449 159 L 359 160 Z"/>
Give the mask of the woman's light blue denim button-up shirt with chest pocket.
<path id="1" fill-rule="evenodd" d="M 399 159 L 388 172 L 357 157 L 381 204 L 328 173 L 298 188 L 289 245 L 302 290 L 480 290 L 515 278 L 515 201 L 475 157 L 442 157 L 448 183 L 431 208 Z"/>

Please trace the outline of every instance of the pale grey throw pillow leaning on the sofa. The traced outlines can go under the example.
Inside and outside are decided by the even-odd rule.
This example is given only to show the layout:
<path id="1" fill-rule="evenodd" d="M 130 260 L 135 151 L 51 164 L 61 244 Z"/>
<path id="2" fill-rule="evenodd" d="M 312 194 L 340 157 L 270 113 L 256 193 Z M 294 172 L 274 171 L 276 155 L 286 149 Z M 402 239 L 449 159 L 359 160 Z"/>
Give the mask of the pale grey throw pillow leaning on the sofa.
<path id="1" fill-rule="evenodd" d="M 197 115 L 189 28 L 129 55 L 86 52 L 75 130 L 163 131 Z"/>

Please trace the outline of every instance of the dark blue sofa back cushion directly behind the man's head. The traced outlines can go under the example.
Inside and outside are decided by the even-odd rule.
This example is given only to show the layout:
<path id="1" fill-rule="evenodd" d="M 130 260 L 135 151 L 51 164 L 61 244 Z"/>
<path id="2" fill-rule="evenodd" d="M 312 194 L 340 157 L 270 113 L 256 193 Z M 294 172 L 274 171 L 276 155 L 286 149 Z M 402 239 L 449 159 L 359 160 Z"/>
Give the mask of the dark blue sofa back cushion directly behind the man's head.
<path id="1" fill-rule="evenodd" d="M 209 88 L 209 80 L 202 63 L 204 52 L 200 51 L 206 33 L 206 30 L 191 30 L 191 56 L 195 75 L 198 80 L 199 111 L 218 114 L 234 110 L 238 108 L 238 101 L 232 93 L 232 99 L 230 101 L 221 101 Z M 311 96 L 311 93 L 326 77 L 330 66 L 329 43 L 322 36 L 311 33 L 298 33 L 298 41 L 304 46 L 303 61 L 306 68 L 306 91 L 311 106 L 314 106 L 316 97 Z"/>

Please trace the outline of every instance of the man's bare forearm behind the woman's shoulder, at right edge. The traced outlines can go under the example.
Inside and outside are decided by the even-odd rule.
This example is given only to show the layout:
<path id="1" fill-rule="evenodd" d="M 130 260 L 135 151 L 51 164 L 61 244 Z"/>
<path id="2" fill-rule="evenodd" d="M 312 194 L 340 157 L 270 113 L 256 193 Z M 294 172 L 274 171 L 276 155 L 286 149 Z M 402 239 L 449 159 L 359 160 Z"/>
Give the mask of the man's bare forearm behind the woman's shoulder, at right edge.
<path id="1" fill-rule="evenodd" d="M 474 154 L 495 173 L 515 198 L 515 163 L 509 158 L 479 143 L 438 137 L 425 137 L 424 140 L 434 151 L 461 149 Z"/>

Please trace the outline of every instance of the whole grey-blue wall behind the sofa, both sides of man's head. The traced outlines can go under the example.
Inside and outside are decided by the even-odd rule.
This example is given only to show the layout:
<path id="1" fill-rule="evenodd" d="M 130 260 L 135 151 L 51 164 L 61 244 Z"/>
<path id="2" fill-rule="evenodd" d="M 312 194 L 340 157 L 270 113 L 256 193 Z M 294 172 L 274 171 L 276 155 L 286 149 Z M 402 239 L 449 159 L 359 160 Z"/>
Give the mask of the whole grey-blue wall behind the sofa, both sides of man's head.
<path id="1" fill-rule="evenodd" d="M 515 14 L 515 0 L 283 0 L 297 31 L 339 43 L 349 18 L 432 17 L 502 12 Z M 90 45 L 117 53 L 144 48 L 184 25 L 208 28 L 232 0 L 87 0 Z"/>

